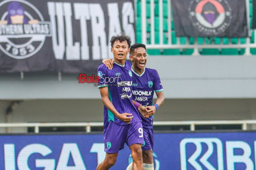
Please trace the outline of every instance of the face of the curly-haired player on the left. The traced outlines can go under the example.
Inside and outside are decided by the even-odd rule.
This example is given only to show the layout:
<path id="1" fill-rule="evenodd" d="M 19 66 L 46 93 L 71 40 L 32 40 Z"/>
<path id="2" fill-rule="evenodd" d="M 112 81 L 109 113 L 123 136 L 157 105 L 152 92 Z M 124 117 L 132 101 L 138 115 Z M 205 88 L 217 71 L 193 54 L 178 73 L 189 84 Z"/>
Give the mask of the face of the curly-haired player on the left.
<path id="1" fill-rule="evenodd" d="M 125 60 L 127 54 L 130 53 L 127 41 L 120 42 L 119 40 L 116 40 L 113 47 L 111 47 L 111 52 L 114 54 L 114 60 Z"/>

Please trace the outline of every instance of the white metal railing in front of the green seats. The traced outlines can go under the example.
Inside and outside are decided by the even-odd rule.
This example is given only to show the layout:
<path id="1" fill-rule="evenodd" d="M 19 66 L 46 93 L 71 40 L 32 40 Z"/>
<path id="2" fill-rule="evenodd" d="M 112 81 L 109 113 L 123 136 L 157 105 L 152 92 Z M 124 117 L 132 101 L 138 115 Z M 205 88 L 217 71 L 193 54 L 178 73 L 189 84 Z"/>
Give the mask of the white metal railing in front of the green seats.
<path id="1" fill-rule="evenodd" d="M 232 44 L 231 40 L 229 39 L 229 44 L 224 44 L 221 42 L 219 44 L 206 44 L 206 38 L 204 38 L 203 44 L 198 44 L 197 38 L 195 38 L 194 44 L 189 44 L 188 38 L 186 38 L 186 44 L 180 43 L 180 38 L 177 37 L 177 43 L 172 44 L 172 16 L 171 16 L 171 0 L 167 0 L 167 44 L 163 43 L 163 0 L 158 0 L 159 4 L 159 43 L 155 43 L 155 2 L 154 0 L 150 0 L 150 36 L 151 36 L 151 43 L 147 43 L 147 16 L 146 16 L 146 0 L 141 0 L 141 20 L 142 20 L 142 43 L 147 46 L 147 49 L 193 49 L 192 55 L 200 55 L 199 49 L 245 49 L 244 55 L 251 55 L 250 48 L 256 48 L 256 34 L 254 34 L 253 38 L 254 43 L 250 43 L 250 38 L 245 39 L 245 43 L 241 43 L 241 39 L 238 39 L 237 44 Z M 249 29 L 249 0 L 246 0 L 246 11 L 247 11 L 247 23 Z M 249 35 L 252 35 L 252 31 L 250 30 Z M 256 33 L 256 32 L 255 32 Z"/>

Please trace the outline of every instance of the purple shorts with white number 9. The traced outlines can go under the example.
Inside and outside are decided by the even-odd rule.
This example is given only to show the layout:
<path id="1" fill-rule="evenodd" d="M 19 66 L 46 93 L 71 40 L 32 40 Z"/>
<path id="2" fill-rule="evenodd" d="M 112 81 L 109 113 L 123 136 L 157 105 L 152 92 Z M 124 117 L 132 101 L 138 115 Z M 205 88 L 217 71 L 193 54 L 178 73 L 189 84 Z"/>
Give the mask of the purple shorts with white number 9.
<path id="1" fill-rule="evenodd" d="M 143 144 L 143 129 L 141 122 L 135 122 L 127 125 L 118 125 L 113 121 L 103 131 L 105 151 L 107 153 L 117 153 L 127 146 L 133 144 Z"/>

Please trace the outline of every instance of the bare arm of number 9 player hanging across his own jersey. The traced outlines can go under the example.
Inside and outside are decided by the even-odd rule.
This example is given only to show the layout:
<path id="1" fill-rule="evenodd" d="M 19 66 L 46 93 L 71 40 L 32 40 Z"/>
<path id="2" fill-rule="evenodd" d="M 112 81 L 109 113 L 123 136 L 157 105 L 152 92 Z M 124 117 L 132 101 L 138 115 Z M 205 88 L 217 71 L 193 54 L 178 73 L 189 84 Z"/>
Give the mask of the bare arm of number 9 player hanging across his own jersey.
<path id="1" fill-rule="evenodd" d="M 108 87 L 100 87 L 99 92 L 101 93 L 101 100 L 103 104 L 106 106 L 106 108 L 109 109 L 110 112 L 114 114 L 114 116 L 117 117 L 117 119 L 122 120 L 124 123 L 130 123 L 133 116 L 130 113 L 119 113 L 112 102 L 109 100 L 109 92 Z M 129 117 L 128 117 L 129 116 Z"/>

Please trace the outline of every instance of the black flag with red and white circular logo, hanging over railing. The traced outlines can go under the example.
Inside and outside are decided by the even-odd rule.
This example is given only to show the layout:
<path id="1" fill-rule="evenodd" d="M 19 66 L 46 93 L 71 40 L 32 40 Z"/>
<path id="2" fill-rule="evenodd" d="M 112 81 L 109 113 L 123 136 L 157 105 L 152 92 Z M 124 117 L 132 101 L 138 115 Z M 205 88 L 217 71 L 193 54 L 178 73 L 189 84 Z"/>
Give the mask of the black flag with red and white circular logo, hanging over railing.
<path id="1" fill-rule="evenodd" d="M 172 0 L 176 36 L 247 37 L 245 0 Z"/>

